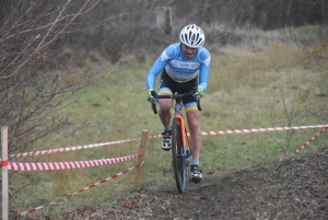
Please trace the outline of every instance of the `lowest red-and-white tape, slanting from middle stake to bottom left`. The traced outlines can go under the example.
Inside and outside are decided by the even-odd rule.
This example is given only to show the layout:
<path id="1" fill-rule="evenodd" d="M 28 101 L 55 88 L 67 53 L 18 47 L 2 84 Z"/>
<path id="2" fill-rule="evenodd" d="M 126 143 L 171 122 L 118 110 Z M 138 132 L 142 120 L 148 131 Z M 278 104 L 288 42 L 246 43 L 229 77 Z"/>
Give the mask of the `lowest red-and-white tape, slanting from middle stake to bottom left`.
<path id="1" fill-rule="evenodd" d="M 80 190 L 77 190 L 77 192 L 73 193 L 73 194 L 70 194 L 70 195 L 68 195 L 68 196 L 66 196 L 66 197 L 62 197 L 62 198 L 59 198 L 59 199 L 56 199 L 55 201 L 51 201 L 50 204 L 47 204 L 47 205 L 44 205 L 44 206 L 39 206 L 39 207 L 33 208 L 33 209 L 30 209 L 30 210 L 27 210 L 27 211 L 23 211 L 23 212 L 16 215 L 15 217 L 16 217 L 16 218 L 23 217 L 23 216 L 25 216 L 25 215 L 27 215 L 27 213 L 32 213 L 32 212 L 34 212 L 34 211 L 37 211 L 37 210 L 39 210 L 39 209 L 42 209 L 42 208 L 45 208 L 45 207 L 55 205 L 55 204 L 57 204 L 57 202 L 59 202 L 59 201 L 63 201 L 65 199 L 71 197 L 71 196 L 74 196 L 74 195 L 77 195 L 77 194 L 83 193 L 83 192 L 85 192 L 85 190 L 87 190 L 87 189 L 90 189 L 90 188 L 93 188 L 93 187 L 98 186 L 98 185 L 101 185 L 101 184 L 104 184 L 104 183 L 106 183 L 106 182 L 108 182 L 108 181 L 112 181 L 112 180 L 114 180 L 114 178 L 116 178 L 116 177 L 118 177 L 118 176 L 120 176 L 120 175 L 122 175 L 122 174 L 126 174 L 126 173 L 128 173 L 129 171 L 131 171 L 131 170 L 133 170 L 133 169 L 140 167 L 140 166 L 142 166 L 142 164 L 143 164 L 143 161 L 142 161 L 142 163 L 137 164 L 137 165 L 134 165 L 133 167 L 127 169 L 127 170 L 125 170 L 125 171 L 122 171 L 122 172 L 119 172 L 119 173 L 117 173 L 117 174 L 115 174 L 115 175 L 113 175 L 113 176 L 110 176 L 110 177 L 104 178 L 104 180 L 102 180 L 102 181 L 99 181 L 99 182 L 97 182 L 97 183 L 95 183 L 95 184 L 92 184 L 92 185 L 86 186 L 86 187 L 84 187 L 84 188 L 82 188 L 82 189 L 80 189 Z"/>

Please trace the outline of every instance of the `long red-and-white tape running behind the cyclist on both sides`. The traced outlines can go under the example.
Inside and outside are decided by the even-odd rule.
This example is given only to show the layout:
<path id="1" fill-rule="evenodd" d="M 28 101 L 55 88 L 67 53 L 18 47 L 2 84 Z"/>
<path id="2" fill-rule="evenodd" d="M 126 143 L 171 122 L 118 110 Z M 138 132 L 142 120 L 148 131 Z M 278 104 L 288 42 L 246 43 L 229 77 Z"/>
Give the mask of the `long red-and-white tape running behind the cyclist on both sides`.
<path id="1" fill-rule="evenodd" d="M 328 127 L 328 125 L 308 125 L 308 126 L 294 126 L 294 127 L 273 127 L 273 128 L 251 128 L 251 129 L 201 131 L 201 135 L 211 136 L 211 135 L 246 134 L 246 132 L 262 132 L 262 131 L 297 130 L 297 129 L 325 128 L 325 127 Z M 160 137 L 162 137 L 162 135 L 149 136 L 149 139 L 160 138 Z M 24 158 L 24 157 L 30 157 L 30 155 L 60 153 L 60 152 L 67 152 L 67 151 L 73 151 L 73 150 L 97 148 L 97 147 L 103 147 L 103 146 L 129 142 L 132 140 L 140 140 L 140 138 L 117 140 L 117 141 L 103 142 L 103 143 L 93 143 L 93 144 L 85 144 L 85 146 L 78 146 L 78 147 L 59 148 L 59 149 L 52 149 L 52 150 L 43 150 L 43 151 L 35 151 L 35 152 L 16 153 L 16 154 L 10 154 L 10 158 Z"/>

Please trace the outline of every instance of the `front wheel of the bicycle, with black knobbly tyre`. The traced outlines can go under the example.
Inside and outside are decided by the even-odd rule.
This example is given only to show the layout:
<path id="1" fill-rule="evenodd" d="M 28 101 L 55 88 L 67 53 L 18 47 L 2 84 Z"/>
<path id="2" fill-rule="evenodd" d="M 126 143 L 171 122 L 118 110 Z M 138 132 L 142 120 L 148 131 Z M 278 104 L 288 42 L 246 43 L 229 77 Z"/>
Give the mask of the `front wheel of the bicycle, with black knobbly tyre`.
<path id="1" fill-rule="evenodd" d="M 175 182 L 178 192 L 181 194 L 186 190 L 186 158 L 184 157 L 181 126 L 178 118 L 173 118 L 172 123 L 172 158 L 174 166 Z"/>

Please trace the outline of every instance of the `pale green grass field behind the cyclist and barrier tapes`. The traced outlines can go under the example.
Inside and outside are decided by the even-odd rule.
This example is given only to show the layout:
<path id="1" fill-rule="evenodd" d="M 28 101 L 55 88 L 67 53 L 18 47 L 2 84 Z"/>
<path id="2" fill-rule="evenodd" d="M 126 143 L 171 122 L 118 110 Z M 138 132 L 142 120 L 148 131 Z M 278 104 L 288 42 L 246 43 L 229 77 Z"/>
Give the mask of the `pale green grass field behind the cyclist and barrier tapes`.
<path id="1" fill-rule="evenodd" d="M 324 57 L 328 51 L 323 53 Z M 268 50 L 251 53 L 230 48 L 223 49 L 219 55 L 212 55 L 209 89 L 201 100 L 201 130 L 327 124 L 308 112 L 319 109 L 321 103 L 327 103 L 328 94 L 327 60 L 320 60 L 318 63 L 315 58 L 279 40 Z M 93 82 L 93 86 L 74 96 L 78 101 L 60 114 L 72 113 L 71 124 L 87 119 L 90 125 L 50 149 L 140 138 L 143 129 L 148 129 L 150 136 L 159 135 L 162 125 L 147 102 L 145 91 L 145 76 L 152 61 L 154 60 L 148 59 L 144 63 L 131 66 L 121 63 L 118 67 L 119 71 L 115 72 L 108 69 L 103 78 Z M 82 70 L 96 71 L 105 65 L 107 63 L 89 65 Z M 203 136 L 201 167 L 204 178 L 232 169 L 290 155 L 318 130 Z M 327 134 L 323 136 L 304 152 L 325 146 Z M 96 160 L 136 154 L 138 149 L 139 142 L 130 141 L 92 150 L 49 154 L 40 160 Z M 33 176 L 37 185 L 31 186 L 30 195 L 19 195 L 16 200 L 23 202 L 12 206 L 17 211 L 24 211 L 45 205 L 136 163 L 137 161 L 130 161 L 91 169 L 35 172 Z M 169 153 L 161 150 L 160 139 L 149 139 L 143 181 L 157 186 L 174 185 L 169 170 Z M 212 171 L 215 171 L 214 174 L 208 174 Z M 136 188 L 133 181 L 134 172 L 130 172 L 67 201 L 48 207 L 44 212 L 61 212 L 83 206 L 110 207 L 119 195 Z"/>

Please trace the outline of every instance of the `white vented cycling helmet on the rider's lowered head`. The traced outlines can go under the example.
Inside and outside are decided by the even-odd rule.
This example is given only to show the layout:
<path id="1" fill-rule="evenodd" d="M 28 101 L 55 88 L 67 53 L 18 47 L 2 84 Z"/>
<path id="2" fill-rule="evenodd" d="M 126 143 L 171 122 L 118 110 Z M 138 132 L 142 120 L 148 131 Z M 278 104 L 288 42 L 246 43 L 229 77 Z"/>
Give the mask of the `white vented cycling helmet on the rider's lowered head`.
<path id="1" fill-rule="evenodd" d="M 196 24 L 189 24 L 181 30 L 180 42 L 188 47 L 198 48 L 204 43 L 204 34 Z"/>

